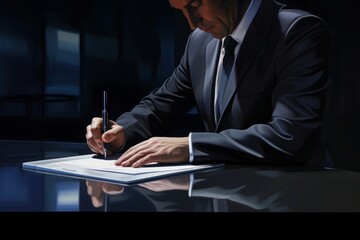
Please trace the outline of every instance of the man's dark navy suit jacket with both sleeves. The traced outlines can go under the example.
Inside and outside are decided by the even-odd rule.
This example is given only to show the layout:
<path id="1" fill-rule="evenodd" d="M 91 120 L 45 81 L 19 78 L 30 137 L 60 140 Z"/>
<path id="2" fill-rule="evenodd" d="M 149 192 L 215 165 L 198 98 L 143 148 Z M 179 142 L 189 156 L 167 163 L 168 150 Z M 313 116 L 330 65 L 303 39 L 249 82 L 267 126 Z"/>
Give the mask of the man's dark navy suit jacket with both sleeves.
<path id="1" fill-rule="evenodd" d="M 263 0 L 241 45 L 217 125 L 213 93 L 220 40 L 200 30 L 190 35 L 172 76 L 117 123 L 132 145 L 196 105 L 206 132 L 192 133 L 194 163 L 304 163 L 321 127 L 327 46 L 318 17 Z"/>

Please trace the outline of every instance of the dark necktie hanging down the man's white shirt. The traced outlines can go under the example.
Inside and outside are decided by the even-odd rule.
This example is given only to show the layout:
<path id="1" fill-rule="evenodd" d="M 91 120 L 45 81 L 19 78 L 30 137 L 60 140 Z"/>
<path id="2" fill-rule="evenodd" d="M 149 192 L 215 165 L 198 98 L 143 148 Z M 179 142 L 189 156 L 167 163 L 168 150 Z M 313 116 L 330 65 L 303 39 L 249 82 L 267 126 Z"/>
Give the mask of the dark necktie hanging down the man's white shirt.
<path id="1" fill-rule="evenodd" d="M 224 95 L 228 80 L 230 77 L 231 69 L 234 65 L 234 50 L 237 42 L 231 37 L 227 36 L 224 41 L 225 56 L 223 58 L 222 68 L 220 67 L 218 94 L 216 100 L 216 119 L 220 120 L 222 107 L 224 107 Z"/>

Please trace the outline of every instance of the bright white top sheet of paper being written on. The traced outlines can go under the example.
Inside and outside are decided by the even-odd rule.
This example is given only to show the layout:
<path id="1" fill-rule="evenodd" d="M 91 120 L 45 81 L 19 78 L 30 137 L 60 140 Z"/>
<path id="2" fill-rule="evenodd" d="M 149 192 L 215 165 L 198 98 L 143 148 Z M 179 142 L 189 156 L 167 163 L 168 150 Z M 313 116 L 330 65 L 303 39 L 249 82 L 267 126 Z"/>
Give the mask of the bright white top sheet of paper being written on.
<path id="1" fill-rule="evenodd" d="M 173 166 L 159 166 L 158 164 L 150 164 L 140 168 L 133 167 L 121 167 L 115 166 L 115 160 L 101 160 L 94 158 L 84 158 L 80 160 L 70 160 L 64 162 L 58 162 L 57 165 L 62 167 L 71 167 L 82 168 L 82 169 L 91 169 L 96 171 L 103 172 L 116 172 L 116 173 L 125 173 L 125 174 L 144 174 L 144 173 L 153 173 L 153 172 L 168 172 L 168 171 L 183 171 L 183 170 L 195 170 L 208 167 L 207 165 L 190 165 L 190 164 L 181 164 Z"/>

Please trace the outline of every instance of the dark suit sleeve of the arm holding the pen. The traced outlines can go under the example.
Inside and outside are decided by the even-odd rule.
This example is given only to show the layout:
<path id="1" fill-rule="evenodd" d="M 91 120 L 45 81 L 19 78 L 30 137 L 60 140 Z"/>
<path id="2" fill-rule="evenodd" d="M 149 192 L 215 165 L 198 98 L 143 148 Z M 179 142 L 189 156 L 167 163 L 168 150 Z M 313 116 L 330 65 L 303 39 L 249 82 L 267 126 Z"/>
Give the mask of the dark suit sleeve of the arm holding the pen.
<path id="1" fill-rule="evenodd" d="M 116 122 L 125 129 L 126 145 L 122 150 L 161 134 L 195 105 L 188 72 L 185 54 L 160 88 L 144 97 L 130 112 L 118 117 Z"/>

